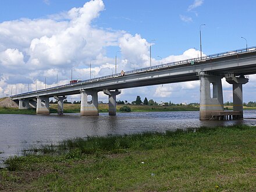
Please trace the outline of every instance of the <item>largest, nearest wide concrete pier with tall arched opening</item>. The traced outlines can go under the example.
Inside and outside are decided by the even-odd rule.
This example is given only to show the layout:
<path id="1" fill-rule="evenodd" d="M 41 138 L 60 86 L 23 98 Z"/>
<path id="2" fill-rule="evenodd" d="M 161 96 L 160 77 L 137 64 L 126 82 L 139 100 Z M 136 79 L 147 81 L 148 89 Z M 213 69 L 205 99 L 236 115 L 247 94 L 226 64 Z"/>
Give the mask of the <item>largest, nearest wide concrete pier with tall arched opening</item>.
<path id="1" fill-rule="evenodd" d="M 200 81 L 200 120 L 208 120 L 213 112 L 224 111 L 221 77 L 201 73 Z"/>

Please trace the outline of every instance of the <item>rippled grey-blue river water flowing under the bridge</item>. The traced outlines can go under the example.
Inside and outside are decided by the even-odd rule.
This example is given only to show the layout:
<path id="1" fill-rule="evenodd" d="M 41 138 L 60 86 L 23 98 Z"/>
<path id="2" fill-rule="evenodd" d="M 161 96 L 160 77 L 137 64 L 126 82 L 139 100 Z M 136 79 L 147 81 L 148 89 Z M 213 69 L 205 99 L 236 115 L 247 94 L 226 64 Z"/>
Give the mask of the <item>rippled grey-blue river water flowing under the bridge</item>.
<path id="1" fill-rule="evenodd" d="M 256 110 L 244 111 L 244 120 L 199 120 L 199 112 L 140 112 L 108 116 L 0 115 L 0 160 L 31 145 L 58 143 L 66 138 L 132 134 L 201 126 L 256 125 Z"/>

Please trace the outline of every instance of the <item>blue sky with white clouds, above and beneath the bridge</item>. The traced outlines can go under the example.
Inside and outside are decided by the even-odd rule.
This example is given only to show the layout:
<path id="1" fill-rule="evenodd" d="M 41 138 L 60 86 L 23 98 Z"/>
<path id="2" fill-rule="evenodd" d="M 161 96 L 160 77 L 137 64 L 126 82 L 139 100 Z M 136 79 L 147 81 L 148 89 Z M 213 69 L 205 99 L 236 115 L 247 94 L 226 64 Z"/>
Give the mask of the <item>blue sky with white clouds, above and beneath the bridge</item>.
<path id="1" fill-rule="evenodd" d="M 1 0 L 0 97 L 117 72 L 256 46 L 253 0 Z M 241 38 L 244 37 L 244 38 Z M 58 82 L 57 82 L 58 76 Z M 256 76 L 243 86 L 256 101 Z M 232 85 L 222 79 L 224 102 Z M 121 90 L 157 102 L 200 102 L 200 82 Z M 79 100 L 80 95 L 69 95 Z M 108 101 L 98 93 L 99 101 Z"/>

